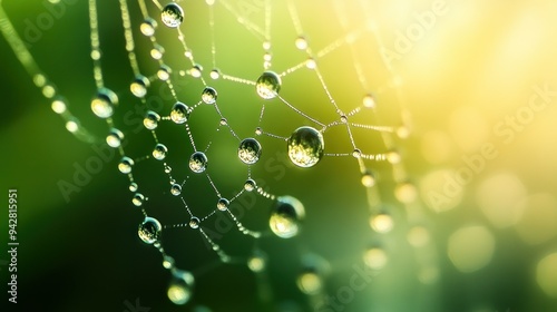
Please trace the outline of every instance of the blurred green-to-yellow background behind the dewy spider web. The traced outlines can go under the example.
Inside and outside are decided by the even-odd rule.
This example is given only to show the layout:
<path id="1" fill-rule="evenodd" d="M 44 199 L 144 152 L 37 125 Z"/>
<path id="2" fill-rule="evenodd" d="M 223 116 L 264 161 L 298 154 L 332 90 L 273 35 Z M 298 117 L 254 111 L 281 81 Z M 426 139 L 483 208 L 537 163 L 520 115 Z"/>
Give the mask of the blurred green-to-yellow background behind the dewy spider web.
<path id="1" fill-rule="evenodd" d="M 139 101 L 129 92 L 133 72 L 124 49 L 119 6 L 115 1 L 97 2 L 105 82 L 120 98 L 116 125 L 127 135 L 130 155 L 148 155 L 155 143 L 145 129 L 135 131 L 141 128 L 143 115 L 135 110 Z M 150 76 L 158 66 L 149 58 L 149 41 L 137 31 L 141 21 L 137 3 L 130 2 L 139 66 Z M 297 33 L 286 1 L 271 2 L 272 69 L 281 72 L 304 61 L 306 55 L 294 46 Z M 41 96 L 2 39 L 1 185 L 6 193 L 17 188 L 19 195 L 19 310 L 131 312 L 126 302 L 134 305 L 139 300 L 150 311 L 313 311 L 311 299 L 295 283 L 303 259 L 309 254 L 323 259 L 330 267 L 324 287 L 335 295 L 354 274 L 352 266 L 363 263 L 364 250 L 378 243 L 389 256 L 387 266 L 343 311 L 557 310 L 557 108 L 553 105 L 557 97 L 549 92 L 543 109 L 528 109 L 537 94 L 535 86 L 557 90 L 557 3 L 292 2 L 314 51 L 361 31 L 353 43 L 343 43 L 317 60 L 341 109 L 351 110 L 373 91 L 377 109 L 365 110 L 354 120 L 398 127 L 402 113 L 410 116 L 410 137 L 395 139 L 410 178 L 420 189 L 410 209 L 395 199 L 391 166 L 368 164 L 378 174 L 382 199 L 392 208 L 394 230 L 379 235 L 370 228 L 355 159 L 325 157 L 315 168 L 301 170 L 289 164 L 283 143 L 262 137 L 263 158 L 253 167 L 253 175 L 271 193 L 292 195 L 304 203 L 303 232 L 292 240 L 268 236 L 258 241 L 268 255 L 267 279 L 262 282 L 245 264 L 215 264 L 216 255 L 190 228 L 165 231 L 165 248 L 177 266 L 196 275 L 194 298 L 187 305 L 176 306 L 166 298 L 170 276 L 160 265 L 159 253 L 137 237 L 141 214 L 131 205 L 126 177 L 117 170 L 118 156 L 111 156 L 106 146 L 80 142 L 65 129 L 63 120 L 51 113 L 50 101 Z M 254 25 L 264 26 L 264 1 L 227 3 Z M 90 113 L 96 88 L 87 1 L 52 4 L 3 0 L 1 4 L 43 72 L 68 99 L 70 110 L 91 134 L 102 138 L 106 125 Z M 147 4 L 158 20 L 156 7 Z M 180 6 L 186 12 L 182 25 L 185 40 L 203 65 L 204 77 L 211 80 L 207 6 L 204 1 L 182 1 Z M 420 17 L 434 10 L 442 14 L 436 14 L 434 21 L 419 32 Z M 261 40 L 218 0 L 214 13 L 217 67 L 225 74 L 255 80 L 263 71 Z M 32 27 L 38 31 L 33 33 Z M 372 28 L 380 33 L 383 48 L 392 52 L 388 64 Z M 414 39 L 408 39 L 409 32 Z M 405 46 L 401 36 L 408 40 Z M 189 64 L 176 33 L 159 22 L 157 39 L 165 47 L 165 62 L 174 70 L 178 97 L 194 105 L 203 84 L 178 75 Z M 363 84 L 359 69 L 365 78 Z M 225 80 L 211 85 L 218 90 L 223 115 L 238 136 L 253 136 L 261 108 L 254 88 Z M 397 97 L 398 91 L 401 97 Z M 154 96 L 152 105 L 163 98 L 157 106 L 160 115 L 167 115 L 173 104 L 164 95 L 165 87 L 155 82 L 147 96 Z M 338 118 L 314 72 L 305 68 L 283 79 L 281 96 L 320 120 Z M 225 129 L 216 131 L 219 117 L 208 106 L 196 108 L 192 116 L 198 146 L 212 142 L 207 152 L 209 174 L 223 194 L 233 194 L 246 176 L 245 166 L 235 157 L 236 140 Z M 512 126 L 511 118 L 526 121 Z M 311 123 L 273 100 L 266 104 L 262 125 L 273 134 L 289 136 L 297 126 Z M 170 150 L 173 175 L 180 179 L 187 175 L 186 159 L 192 149 L 185 131 L 173 126 L 163 124 L 158 134 Z M 354 137 L 367 154 L 387 152 L 378 133 L 356 130 Z M 447 176 L 466 168 L 465 158 L 480 157 L 486 144 L 497 156 L 483 158 L 485 168 L 473 173 L 450 201 L 441 206 L 432 204 L 431 192 L 441 192 Z M 340 127 L 325 133 L 325 145 L 328 153 L 352 152 Z M 60 181 L 71 183 L 77 168 L 99 155 L 108 155 L 108 160 L 66 202 Z M 187 222 L 180 202 L 168 194 L 160 164 L 146 160 L 136 167 L 140 188 L 149 197 L 147 213 L 164 224 Z M 215 202 L 211 186 L 197 177 L 186 185 L 188 205 L 205 215 Z M 256 197 L 242 222 L 266 231 L 272 205 Z M 411 217 L 417 209 L 424 212 L 419 220 Z M 429 233 L 427 247 L 412 248 L 407 240 L 417 222 Z M 223 224 L 215 218 L 207 221 L 209 228 Z M 4 244 L 6 222 L 0 230 Z M 241 257 L 248 256 L 253 248 L 253 240 L 235 228 L 217 242 Z M 0 256 L 3 259 L 6 254 Z M 6 285 L 6 266 L 0 273 Z M 267 289 L 271 296 L 265 296 Z"/>

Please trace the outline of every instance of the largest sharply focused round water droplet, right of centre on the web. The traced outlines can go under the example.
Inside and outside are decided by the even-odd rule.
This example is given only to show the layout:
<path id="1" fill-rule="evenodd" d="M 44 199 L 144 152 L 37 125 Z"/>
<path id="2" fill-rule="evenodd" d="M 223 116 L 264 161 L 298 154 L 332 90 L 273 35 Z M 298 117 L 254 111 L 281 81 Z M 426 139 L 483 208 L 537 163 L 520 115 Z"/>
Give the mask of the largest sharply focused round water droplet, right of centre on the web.
<path id="1" fill-rule="evenodd" d="M 323 157 L 323 135 L 312 127 L 295 129 L 287 140 L 289 158 L 299 167 L 313 167 Z"/>

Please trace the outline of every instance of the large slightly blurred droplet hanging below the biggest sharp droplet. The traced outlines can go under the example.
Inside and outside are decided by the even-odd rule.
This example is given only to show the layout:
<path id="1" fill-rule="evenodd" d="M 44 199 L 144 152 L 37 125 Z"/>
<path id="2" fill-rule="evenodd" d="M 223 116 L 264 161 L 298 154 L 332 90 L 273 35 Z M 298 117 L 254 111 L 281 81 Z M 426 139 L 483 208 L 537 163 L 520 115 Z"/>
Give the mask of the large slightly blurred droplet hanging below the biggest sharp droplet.
<path id="1" fill-rule="evenodd" d="M 282 238 L 295 236 L 300 231 L 300 222 L 305 216 L 304 206 L 292 196 L 280 196 L 271 213 L 268 225 L 271 231 Z"/>

